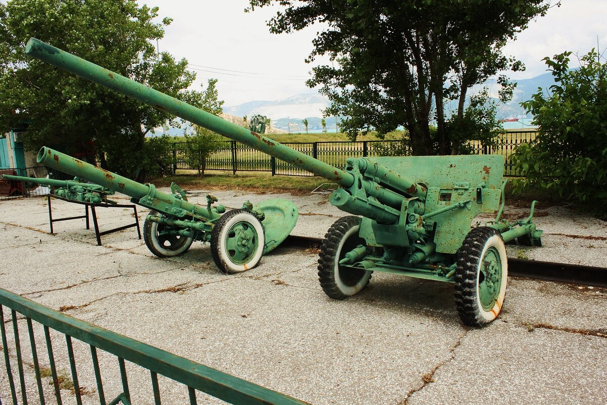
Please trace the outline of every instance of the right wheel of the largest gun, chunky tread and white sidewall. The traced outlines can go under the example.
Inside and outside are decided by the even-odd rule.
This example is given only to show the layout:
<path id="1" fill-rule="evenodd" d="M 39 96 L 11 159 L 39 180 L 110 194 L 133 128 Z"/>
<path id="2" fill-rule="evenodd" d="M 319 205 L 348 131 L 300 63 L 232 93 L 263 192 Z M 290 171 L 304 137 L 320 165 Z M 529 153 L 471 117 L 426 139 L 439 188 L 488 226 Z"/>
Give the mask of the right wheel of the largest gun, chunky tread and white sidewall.
<path id="1" fill-rule="evenodd" d="M 457 252 L 455 305 L 464 324 L 484 327 L 500 314 L 506 296 L 508 261 L 500 232 L 476 227 Z"/>

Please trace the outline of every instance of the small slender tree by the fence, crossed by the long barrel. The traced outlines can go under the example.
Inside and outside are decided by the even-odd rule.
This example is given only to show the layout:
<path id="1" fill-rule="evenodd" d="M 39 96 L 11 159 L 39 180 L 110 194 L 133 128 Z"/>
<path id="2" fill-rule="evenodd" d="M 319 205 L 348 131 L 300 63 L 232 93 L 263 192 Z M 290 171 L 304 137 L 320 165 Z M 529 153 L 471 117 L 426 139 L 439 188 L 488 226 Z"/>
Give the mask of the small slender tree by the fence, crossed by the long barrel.
<path id="1" fill-rule="evenodd" d="M 209 79 L 208 85 L 203 92 L 200 100 L 200 108 L 206 112 L 210 112 L 219 116 L 222 112 L 223 100 L 219 100 L 217 88 L 217 79 Z M 217 150 L 225 147 L 225 142 L 222 136 L 215 134 L 212 131 L 202 128 L 202 126 L 194 126 L 195 133 L 192 136 L 186 134 L 186 156 L 188 166 L 198 170 L 198 175 L 205 174 L 206 159 Z"/>

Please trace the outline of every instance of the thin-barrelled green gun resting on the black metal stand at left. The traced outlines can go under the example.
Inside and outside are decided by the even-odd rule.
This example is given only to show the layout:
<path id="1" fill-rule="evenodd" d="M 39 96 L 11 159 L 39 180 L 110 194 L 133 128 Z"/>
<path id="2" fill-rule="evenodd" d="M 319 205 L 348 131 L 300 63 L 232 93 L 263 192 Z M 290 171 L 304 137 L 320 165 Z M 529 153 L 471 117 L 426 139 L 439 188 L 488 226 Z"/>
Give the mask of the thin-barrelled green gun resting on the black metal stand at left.
<path id="1" fill-rule="evenodd" d="M 13 181 L 31 182 L 55 189 L 55 195 L 71 199 L 73 201 L 90 202 L 92 204 L 100 204 L 106 202 L 112 204 L 114 201 L 107 199 L 108 195 L 114 194 L 114 190 L 106 189 L 98 184 L 90 184 L 81 182 L 77 177 L 73 180 L 55 180 L 25 176 L 2 175 L 3 179 Z"/>

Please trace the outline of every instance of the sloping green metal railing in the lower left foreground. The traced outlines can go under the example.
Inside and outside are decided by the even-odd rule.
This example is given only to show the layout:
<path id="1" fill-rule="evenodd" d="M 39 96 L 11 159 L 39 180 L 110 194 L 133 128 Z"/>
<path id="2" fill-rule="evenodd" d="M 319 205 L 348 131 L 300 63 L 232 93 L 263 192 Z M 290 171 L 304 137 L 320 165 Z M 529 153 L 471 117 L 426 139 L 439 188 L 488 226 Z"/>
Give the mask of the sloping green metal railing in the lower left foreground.
<path id="1" fill-rule="evenodd" d="M 10 317 L 5 319 L 4 307 L 10 310 Z M 23 317 L 18 317 L 21 314 Z M 76 404 L 83 404 L 83 392 L 80 386 L 79 377 L 76 365 L 76 356 L 72 339 L 84 342 L 90 347 L 90 356 L 97 384 L 96 392 L 101 405 L 115 405 L 123 403 L 124 405 L 131 404 L 131 393 L 129 390 L 129 378 L 127 377 L 127 365 L 132 369 L 134 365 L 138 366 L 138 371 L 143 369 L 149 370 L 151 379 L 151 392 L 149 395 L 154 398 L 156 405 L 161 404 L 160 384 L 158 383 L 158 375 L 166 376 L 177 383 L 183 385 L 183 398 L 189 398 L 190 404 L 197 403 L 197 391 L 208 393 L 220 400 L 231 404 L 285 404 L 296 405 L 305 404 L 302 401 L 291 398 L 282 393 L 258 386 L 249 381 L 237 378 L 219 370 L 212 369 L 206 365 L 191 361 L 189 359 L 174 355 L 168 351 L 161 350 L 143 342 L 127 338 L 121 334 L 106 330 L 83 320 L 76 319 L 58 311 L 33 302 L 32 300 L 13 294 L 10 291 L 0 288 L 0 333 L 2 334 L 2 351 L 4 352 L 5 370 L 7 374 L 8 387 L 13 405 L 30 403 L 46 404 L 48 398 L 45 398 L 42 372 L 50 369 L 50 376 L 53 386 L 53 395 L 57 404 L 63 404 L 61 398 L 60 376 L 58 374 L 58 366 L 53 349 L 51 339 L 51 331 L 57 331 L 65 335 L 67 358 L 69 359 L 69 369 L 71 371 L 71 392 L 75 396 Z M 35 324 L 33 321 L 42 325 L 44 330 L 44 340 L 46 341 L 46 352 L 48 357 L 39 356 L 38 346 L 35 339 Z M 27 334 L 29 335 L 29 344 L 27 341 L 22 342 L 19 336 L 19 324 L 21 330 L 24 329 L 23 323 L 27 324 Z M 6 325 L 12 325 L 14 341 L 11 342 L 11 347 L 8 346 L 8 334 Z M 37 326 L 37 325 L 36 325 Z M 28 358 L 31 362 L 24 361 L 24 349 L 31 349 L 32 357 Z M 56 339 L 55 339 L 56 346 Z M 118 387 L 120 393 L 109 402 L 106 402 L 106 390 L 104 389 L 103 379 L 101 377 L 101 367 L 97 351 L 101 350 L 110 355 L 116 356 L 117 367 L 120 369 L 121 387 Z M 112 356 L 112 357 L 113 357 Z M 41 362 L 44 357 L 44 364 L 49 364 L 49 367 L 42 368 Z M 48 362 L 46 362 L 48 360 Z M 79 358 L 79 362 L 83 359 Z M 127 363 L 128 362 L 128 363 Z M 15 371 L 13 365 L 16 363 L 16 373 L 18 381 L 15 382 Z M 132 364 L 131 364 L 132 363 Z M 30 369 L 33 369 L 31 376 Z M 117 371 L 117 370 L 114 370 Z M 133 371 L 133 370 L 131 370 Z M 37 398 L 30 397 L 32 391 L 35 392 L 33 381 L 35 379 L 35 387 L 37 388 Z M 30 384 L 27 384 L 30 383 Z M 116 387 L 112 387 L 116 390 Z M 140 389 L 140 386 L 138 386 Z M 47 389 L 48 391 L 48 389 Z M 187 392 L 187 395 L 186 395 Z M 8 393 L 0 390 L 0 404 L 2 404 L 4 395 Z M 93 395 L 87 393 L 86 395 Z M 52 398 L 51 398 L 52 399 Z M 86 398 L 87 400 L 89 398 Z M 21 400 L 21 401 L 19 401 Z M 73 402 L 70 398 L 69 402 Z M 145 401 L 151 403 L 152 401 Z M 169 398 L 169 403 L 176 403 L 176 398 Z M 182 403 L 185 400 L 179 400 Z"/>

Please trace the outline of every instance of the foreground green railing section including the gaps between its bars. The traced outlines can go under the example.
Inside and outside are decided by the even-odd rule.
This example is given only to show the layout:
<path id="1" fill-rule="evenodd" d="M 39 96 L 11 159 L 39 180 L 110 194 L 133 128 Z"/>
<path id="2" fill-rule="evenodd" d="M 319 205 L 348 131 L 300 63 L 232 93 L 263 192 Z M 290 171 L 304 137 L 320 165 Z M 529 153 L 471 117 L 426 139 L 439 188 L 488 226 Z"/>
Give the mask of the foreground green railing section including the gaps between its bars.
<path id="1" fill-rule="evenodd" d="M 11 326 L 12 334 L 7 333 Z M 102 405 L 130 405 L 135 398 L 137 403 L 160 405 L 164 399 L 192 405 L 206 403 L 203 393 L 231 404 L 305 404 L 2 288 L 0 333 L 6 371 L 5 378 L 0 373 L 0 404 L 12 400 L 13 405 L 61 405 L 75 400 L 82 405 L 97 400 Z"/>

